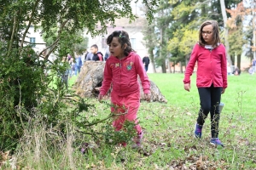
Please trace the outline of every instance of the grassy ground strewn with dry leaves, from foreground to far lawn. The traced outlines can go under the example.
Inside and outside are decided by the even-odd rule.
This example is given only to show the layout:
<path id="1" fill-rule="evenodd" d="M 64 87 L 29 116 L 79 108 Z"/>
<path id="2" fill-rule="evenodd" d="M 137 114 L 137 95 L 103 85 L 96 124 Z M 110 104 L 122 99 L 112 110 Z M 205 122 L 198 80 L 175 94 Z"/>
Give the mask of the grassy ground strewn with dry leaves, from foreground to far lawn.
<path id="1" fill-rule="evenodd" d="M 148 74 L 148 77 L 168 102 L 142 102 L 138 112 L 144 132 L 141 150 L 132 150 L 130 144 L 127 147 L 105 144 L 98 147 L 90 141 L 88 153 L 81 155 L 79 145 L 70 144 L 68 138 L 61 150 L 45 150 L 44 138 L 39 136 L 42 133 L 37 133 L 38 141 L 43 143 L 41 150 L 30 146 L 22 151 L 26 154 L 17 156 L 18 160 L 28 169 L 255 169 L 256 90 L 253 88 L 256 76 L 242 73 L 239 77 L 228 77 L 219 124 L 219 139 L 225 144 L 224 148 L 209 144 L 209 117 L 202 139 L 193 137 L 199 110 L 195 75 L 190 92 L 183 89 L 183 74 Z M 74 81 L 75 77 L 69 83 Z M 96 108 L 84 113 L 89 119 L 108 116 L 108 105 L 96 99 L 90 102 L 96 104 Z M 24 147 L 28 147 L 27 142 Z"/>

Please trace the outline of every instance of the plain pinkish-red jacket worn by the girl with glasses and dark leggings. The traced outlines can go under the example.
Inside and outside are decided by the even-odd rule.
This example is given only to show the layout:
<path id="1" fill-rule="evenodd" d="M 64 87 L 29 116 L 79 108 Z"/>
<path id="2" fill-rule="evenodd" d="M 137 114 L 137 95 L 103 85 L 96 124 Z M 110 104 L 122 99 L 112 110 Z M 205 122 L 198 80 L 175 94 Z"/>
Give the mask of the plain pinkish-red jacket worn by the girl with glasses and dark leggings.
<path id="1" fill-rule="evenodd" d="M 184 83 L 190 83 L 190 76 L 194 71 L 196 61 L 197 88 L 207 88 L 212 83 L 216 88 L 228 87 L 226 50 L 223 44 L 219 44 L 210 51 L 196 43 L 185 71 Z"/>

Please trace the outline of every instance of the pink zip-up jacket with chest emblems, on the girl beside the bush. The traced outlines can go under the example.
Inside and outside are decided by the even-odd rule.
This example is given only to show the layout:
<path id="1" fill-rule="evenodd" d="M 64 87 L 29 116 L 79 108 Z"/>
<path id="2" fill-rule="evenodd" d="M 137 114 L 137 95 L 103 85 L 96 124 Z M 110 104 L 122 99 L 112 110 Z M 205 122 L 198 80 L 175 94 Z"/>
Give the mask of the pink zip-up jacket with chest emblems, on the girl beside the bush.
<path id="1" fill-rule="evenodd" d="M 113 83 L 113 92 L 119 96 L 126 96 L 138 92 L 139 82 L 137 80 L 139 75 L 144 94 L 150 93 L 150 82 L 146 71 L 144 70 L 143 60 L 135 52 L 131 52 L 124 59 L 118 59 L 110 56 L 104 68 L 104 77 L 100 94 L 105 95 Z"/>

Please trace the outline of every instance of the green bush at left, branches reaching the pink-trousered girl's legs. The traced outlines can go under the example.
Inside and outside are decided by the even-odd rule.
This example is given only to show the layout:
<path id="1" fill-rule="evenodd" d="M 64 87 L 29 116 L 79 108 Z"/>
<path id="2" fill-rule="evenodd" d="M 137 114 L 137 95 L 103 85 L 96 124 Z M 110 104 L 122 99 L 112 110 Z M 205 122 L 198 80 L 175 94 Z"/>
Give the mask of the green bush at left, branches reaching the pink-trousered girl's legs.
<path id="1" fill-rule="evenodd" d="M 87 135 L 85 139 L 107 144 L 129 141 L 135 135 L 132 122 L 125 122 L 125 133 L 114 132 L 111 114 L 104 119 L 84 116 L 83 112 L 93 108 L 94 104 L 65 87 L 61 75 L 68 65 L 60 65 L 58 59 L 54 63 L 39 60 L 32 48 L 24 49 L 20 59 L 15 57 L 15 51 L 6 59 L 1 52 L 0 150 L 15 150 L 24 132 L 35 124 L 46 131 L 59 133 L 63 138 L 67 135 L 67 125 L 70 125 L 81 137 L 77 140 L 82 141 Z M 46 74 L 46 71 L 50 73 Z M 102 127 L 94 129 L 93 126 L 100 122 Z M 56 136 L 57 140 L 59 138 L 60 135 Z"/>

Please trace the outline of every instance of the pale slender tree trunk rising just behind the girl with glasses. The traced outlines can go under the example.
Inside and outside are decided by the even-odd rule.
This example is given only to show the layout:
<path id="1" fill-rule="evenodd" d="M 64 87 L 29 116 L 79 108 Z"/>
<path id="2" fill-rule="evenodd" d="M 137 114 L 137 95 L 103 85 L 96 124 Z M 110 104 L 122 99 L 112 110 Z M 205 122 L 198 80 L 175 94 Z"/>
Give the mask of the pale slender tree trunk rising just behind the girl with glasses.
<path id="1" fill-rule="evenodd" d="M 226 7 L 225 7 L 225 3 L 224 0 L 219 0 L 220 1 L 220 8 L 221 8 L 221 13 L 222 13 L 222 17 L 223 17 L 223 21 L 224 21 L 224 42 L 225 42 L 225 47 L 226 47 L 226 51 L 227 51 L 227 58 L 228 58 L 228 62 L 230 63 L 230 65 L 232 65 L 232 60 L 230 59 L 230 54 L 229 54 L 229 50 L 230 50 L 230 42 L 228 39 L 229 36 L 229 29 L 227 27 L 227 13 L 226 13 Z"/>

